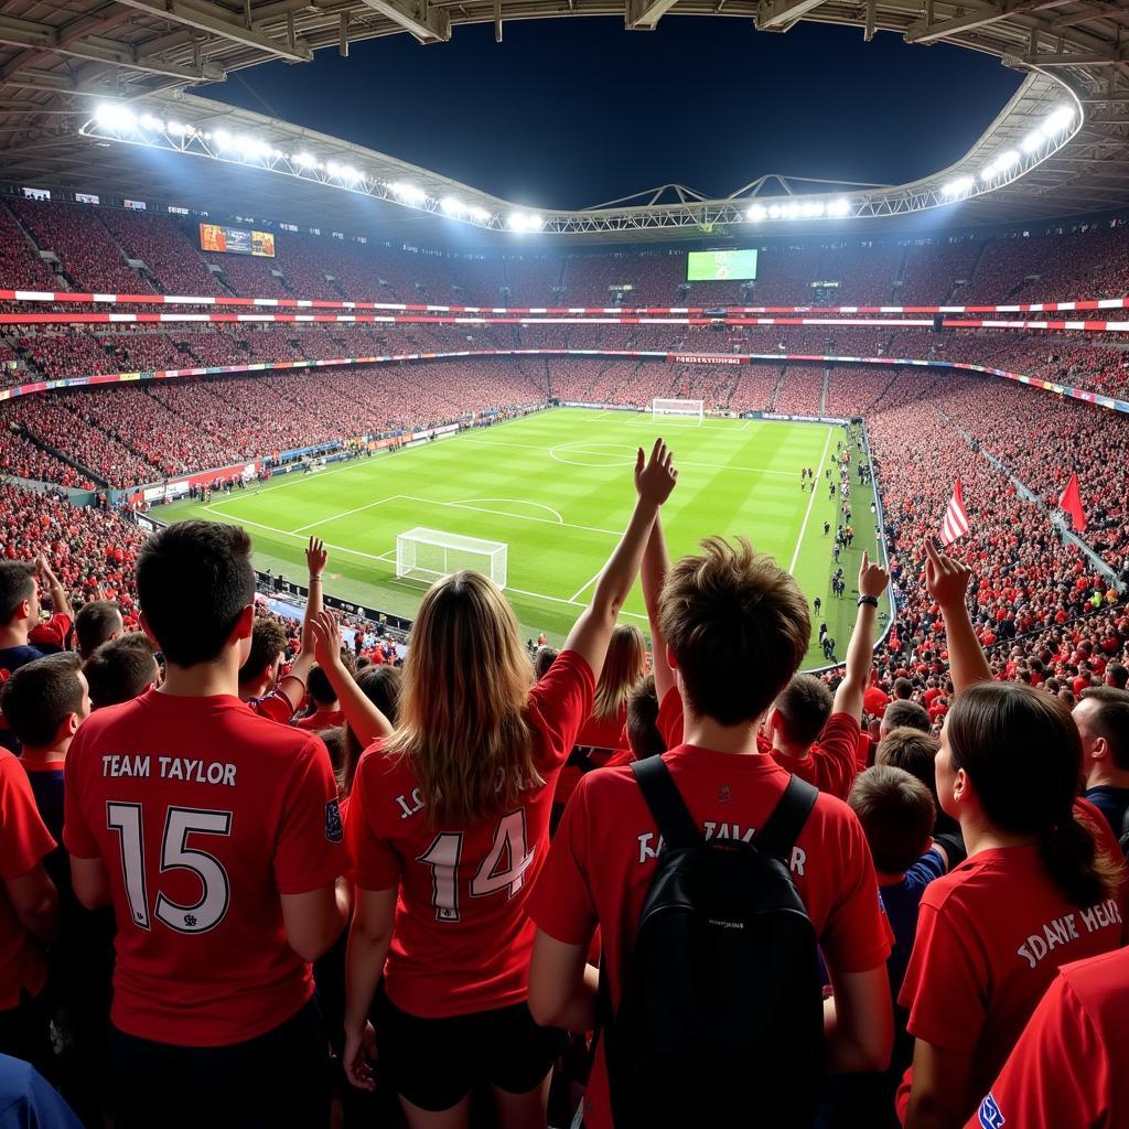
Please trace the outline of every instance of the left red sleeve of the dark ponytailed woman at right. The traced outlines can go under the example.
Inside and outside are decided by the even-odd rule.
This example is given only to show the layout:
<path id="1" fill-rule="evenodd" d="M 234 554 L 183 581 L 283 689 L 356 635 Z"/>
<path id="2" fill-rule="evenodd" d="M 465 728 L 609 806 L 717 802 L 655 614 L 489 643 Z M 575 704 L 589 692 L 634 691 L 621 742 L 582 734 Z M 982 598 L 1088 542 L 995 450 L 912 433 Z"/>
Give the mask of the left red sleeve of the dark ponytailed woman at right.
<path id="1" fill-rule="evenodd" d="M 990 970 L 973 922 L 948 899 L 926 893 L 898 1003 L 909 1009 L 907 1030 L 946 1051 L 975 1050 L 983 1029 Z"/>

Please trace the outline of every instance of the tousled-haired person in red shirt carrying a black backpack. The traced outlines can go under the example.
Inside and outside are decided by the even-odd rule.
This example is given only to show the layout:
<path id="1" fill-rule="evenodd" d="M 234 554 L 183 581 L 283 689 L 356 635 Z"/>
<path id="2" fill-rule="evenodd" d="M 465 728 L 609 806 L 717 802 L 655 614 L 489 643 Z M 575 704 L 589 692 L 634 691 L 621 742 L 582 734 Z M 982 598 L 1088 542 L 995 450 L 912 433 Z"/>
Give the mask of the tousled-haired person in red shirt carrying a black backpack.
<path id="1" fill-rule="evenodd" d="M 747 541 L 714 537 L 703 555 L 666 571 L 656 525 L 644 566 L 645 595 L 685 707 L 683 741 L 663 761 L 707 839 L 752 839 L 776 808 L 788 773 L 758 745 L 756 732 L 807 654 L 807 601 L 795 580 Z M 656 664 L 656 679 L 658 664 Z M 863 685 L 858 694 L 861 698 Z M 859 702 L 861 707 L 861 702 Z M 596 979 L 587 968 L 596 927 L 614 1008 L 621 998 L 639 913 L 662 850 L 654 816 L 630 767 L 580 781 L 533 894 L 537 924 L 530 1006 L 541 1023 L 593 1030 Z M 854 812 L 820 794 L 791 858 L 834 996 L 825 1005 L 833 1070 L 882 1069 L 890 1059 L 892 1008 L 885 961 L 890 934 L 870 851 Z M 679 975 L 672 970 L 672 975 Z M 702 1053 L 710 1053 L 702 1048 Z M 603 1047 L 585 1100 L 585 1124 L 609 1129 Z"/>

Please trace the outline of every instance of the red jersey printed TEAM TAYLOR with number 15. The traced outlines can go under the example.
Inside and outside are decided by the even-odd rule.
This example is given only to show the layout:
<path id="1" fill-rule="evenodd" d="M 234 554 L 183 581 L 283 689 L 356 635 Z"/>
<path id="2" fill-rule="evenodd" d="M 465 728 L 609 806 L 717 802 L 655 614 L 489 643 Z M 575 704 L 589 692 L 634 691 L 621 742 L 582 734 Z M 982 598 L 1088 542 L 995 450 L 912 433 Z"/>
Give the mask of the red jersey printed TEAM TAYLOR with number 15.
<path id="1" fill-rule="evenodd" d="M 93 714 L 67 755 L 67 849 L 100 858 L 117 919 L 111 1017 L 186 1047 L 254 1039 L 309 998 L 280 894 L 348 867 L 321 738 L 238 698 L 149 690 Z"/>

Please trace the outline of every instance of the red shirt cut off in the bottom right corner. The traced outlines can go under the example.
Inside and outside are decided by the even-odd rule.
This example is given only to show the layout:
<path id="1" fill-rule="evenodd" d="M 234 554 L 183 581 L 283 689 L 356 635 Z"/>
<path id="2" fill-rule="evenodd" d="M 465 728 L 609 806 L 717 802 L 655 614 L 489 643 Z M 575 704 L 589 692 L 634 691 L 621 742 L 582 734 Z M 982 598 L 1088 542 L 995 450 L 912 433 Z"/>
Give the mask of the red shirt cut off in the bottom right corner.
<path id="1" fill-rule="evenodd" d="M 1127 1040 L 1129 949 L 1065 964 L 968 1129 L 1115 1129 L 1129 1071 L 1112 1056 Z"/>

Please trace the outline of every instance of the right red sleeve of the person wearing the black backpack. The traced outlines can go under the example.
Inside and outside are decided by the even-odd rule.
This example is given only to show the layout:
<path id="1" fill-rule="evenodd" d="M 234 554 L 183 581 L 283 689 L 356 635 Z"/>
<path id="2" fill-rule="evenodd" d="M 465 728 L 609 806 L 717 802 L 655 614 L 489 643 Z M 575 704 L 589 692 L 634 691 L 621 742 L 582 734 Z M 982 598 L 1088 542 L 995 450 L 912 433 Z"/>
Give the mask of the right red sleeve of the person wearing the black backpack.
<path id="1" fill-rule="evenodd" d="M 835 882 L 842 893 L 828 914 L 820 948 L 837 972 L 868 972 L 890 956 L 893 933 L 878 895 L 878 876 L 863 824 L 846 805 L 840 806 L 844 820 Z"/>

